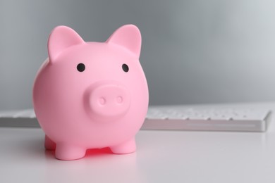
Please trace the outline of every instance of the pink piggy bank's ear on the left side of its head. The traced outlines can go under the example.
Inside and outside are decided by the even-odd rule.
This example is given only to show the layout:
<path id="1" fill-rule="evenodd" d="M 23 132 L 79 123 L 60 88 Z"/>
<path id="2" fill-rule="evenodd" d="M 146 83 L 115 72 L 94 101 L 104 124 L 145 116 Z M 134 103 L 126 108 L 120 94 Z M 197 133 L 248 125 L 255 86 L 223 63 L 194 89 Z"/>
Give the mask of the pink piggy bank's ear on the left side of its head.
<path id="1" fill-rule="evenodd" d="M 52 30 L 48 40 L 49 61 L 54 62 L 55 58 L 64 49 L 75 44 L 83 43 L 83 39 L 70 27 L 58 26 Z"/>

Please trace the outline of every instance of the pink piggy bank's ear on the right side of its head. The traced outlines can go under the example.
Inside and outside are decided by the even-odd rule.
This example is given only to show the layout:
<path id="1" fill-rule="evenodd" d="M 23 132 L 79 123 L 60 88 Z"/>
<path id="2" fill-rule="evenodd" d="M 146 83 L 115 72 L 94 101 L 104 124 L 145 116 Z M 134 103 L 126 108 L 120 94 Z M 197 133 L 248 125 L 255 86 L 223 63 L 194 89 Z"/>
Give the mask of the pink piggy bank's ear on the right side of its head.
<path id="1" fill-rule="evenodd" d="M 124 25 L 118 28 L 106 42 L 123 46 L 138 58 L 140 57 L 141 34 L 135 25 Z"/>

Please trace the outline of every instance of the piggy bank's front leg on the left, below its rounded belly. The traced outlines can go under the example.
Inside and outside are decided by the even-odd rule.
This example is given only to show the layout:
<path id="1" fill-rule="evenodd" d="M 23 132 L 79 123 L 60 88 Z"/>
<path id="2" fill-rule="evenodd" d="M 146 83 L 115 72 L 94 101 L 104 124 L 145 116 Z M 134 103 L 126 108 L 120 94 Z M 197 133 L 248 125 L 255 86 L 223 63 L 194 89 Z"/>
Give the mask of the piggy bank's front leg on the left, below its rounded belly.
<path id="1" fill-rule="evenodd" d="M 59 160 L 76 160 L 85 156 L 86 149 L 73 144 L 57 143 L 56 158 Z"/>

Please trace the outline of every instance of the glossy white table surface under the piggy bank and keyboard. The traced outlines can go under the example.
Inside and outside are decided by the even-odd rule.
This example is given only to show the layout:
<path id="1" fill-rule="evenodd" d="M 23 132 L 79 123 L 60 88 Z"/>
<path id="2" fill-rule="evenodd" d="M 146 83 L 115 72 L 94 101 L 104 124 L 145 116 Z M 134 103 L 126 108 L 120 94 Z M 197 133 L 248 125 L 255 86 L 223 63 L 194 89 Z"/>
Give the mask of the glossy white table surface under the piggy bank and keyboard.
<path id="1" fill-rule="evenodd" d="M 264 133 L 141 130 L 136 141 L 135 153 L 63 161 L 44 150 L 41 129 L 1 127 L 0 182 L 275 182 L 274 118 Z"/>

